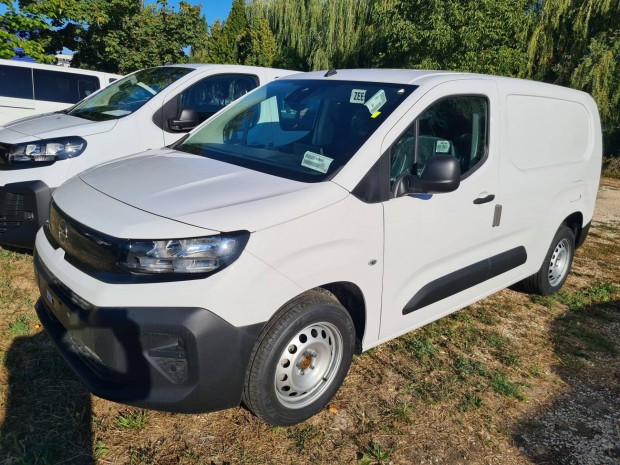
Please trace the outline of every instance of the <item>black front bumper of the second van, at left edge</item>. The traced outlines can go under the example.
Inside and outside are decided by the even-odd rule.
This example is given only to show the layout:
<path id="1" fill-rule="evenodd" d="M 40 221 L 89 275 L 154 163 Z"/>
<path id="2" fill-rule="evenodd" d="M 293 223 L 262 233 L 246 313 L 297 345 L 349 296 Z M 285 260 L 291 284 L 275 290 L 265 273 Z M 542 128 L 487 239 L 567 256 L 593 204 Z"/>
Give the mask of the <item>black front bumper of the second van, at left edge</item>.
<path id="1" fill-rule="evenodd" d="M 32 249 L 49 216 L 52 189 L 42 181 L 0 186 L 0 244 Z"/>

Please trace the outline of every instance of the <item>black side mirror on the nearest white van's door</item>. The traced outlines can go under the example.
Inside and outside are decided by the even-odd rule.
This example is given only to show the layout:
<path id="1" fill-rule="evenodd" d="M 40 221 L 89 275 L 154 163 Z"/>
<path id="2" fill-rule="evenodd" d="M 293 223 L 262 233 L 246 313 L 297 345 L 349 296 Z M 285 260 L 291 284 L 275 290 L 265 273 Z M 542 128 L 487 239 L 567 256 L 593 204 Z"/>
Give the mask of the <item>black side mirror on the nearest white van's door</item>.
<path id="1" fill-rule="evenodd" d="M 429 158 L 420 177 L 404 174 L 396 180 L 394 197 L 452 192 L 460 184 L 461 167 L 458 160 L 451 155 L 435 155 Z"/>

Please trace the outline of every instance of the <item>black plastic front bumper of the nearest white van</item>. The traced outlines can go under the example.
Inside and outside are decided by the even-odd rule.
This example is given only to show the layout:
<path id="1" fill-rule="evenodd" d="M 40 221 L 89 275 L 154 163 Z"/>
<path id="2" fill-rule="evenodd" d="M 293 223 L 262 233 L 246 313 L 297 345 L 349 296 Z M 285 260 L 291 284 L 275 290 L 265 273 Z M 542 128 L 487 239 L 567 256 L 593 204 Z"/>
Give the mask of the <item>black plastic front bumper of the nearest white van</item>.
<path id="1" fill-rule="evenodd" d="M 235 327 L 203 308 L 102 308 L 60 282 L 35 254 L 37 314 L 99 397 L 172 412 L 239 405 L 263 323 Z"/>

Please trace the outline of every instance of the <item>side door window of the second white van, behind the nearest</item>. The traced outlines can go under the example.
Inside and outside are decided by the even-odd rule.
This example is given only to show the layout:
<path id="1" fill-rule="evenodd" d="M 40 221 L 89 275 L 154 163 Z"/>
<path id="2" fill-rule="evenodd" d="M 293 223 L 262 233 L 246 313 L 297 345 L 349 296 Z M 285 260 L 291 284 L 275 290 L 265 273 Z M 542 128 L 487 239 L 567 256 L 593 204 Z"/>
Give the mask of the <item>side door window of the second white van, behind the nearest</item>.
<path id="1" fill-rule="evenodd" d="M 180 95 L 180 108 L 194 108 L 202 123 L 233 100 L 258 87 L 258 78 L 250 75 L 213 76 L 197 82 Z"/>

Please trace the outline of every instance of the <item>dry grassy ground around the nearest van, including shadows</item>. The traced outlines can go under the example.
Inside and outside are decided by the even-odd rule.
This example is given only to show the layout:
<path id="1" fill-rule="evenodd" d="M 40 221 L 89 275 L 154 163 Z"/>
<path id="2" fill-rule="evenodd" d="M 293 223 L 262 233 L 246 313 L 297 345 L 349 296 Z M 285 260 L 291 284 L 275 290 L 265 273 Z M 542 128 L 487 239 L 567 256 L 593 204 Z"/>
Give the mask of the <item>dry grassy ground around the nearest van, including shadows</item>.
<path id="1" fill-rule="evenodd" d="M 0 249 L 0 464 L 620 464 L 620 181 L 552 297 L 504 290 L 353 361 L 323 412 L 145 411 L 88 393 Z"/>

